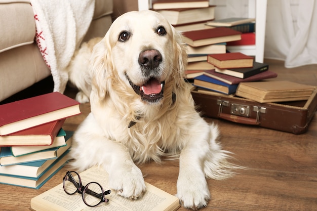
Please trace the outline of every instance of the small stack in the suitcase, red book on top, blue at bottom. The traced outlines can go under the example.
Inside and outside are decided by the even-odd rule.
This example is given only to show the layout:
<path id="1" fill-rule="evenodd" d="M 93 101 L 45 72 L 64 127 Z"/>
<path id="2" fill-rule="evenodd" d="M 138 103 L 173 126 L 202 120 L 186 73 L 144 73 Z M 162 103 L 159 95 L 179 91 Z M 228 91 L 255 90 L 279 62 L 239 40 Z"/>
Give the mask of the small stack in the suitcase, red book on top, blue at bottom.
<path id="1" fill-rule="evenodd" d="M 255 62 L 253 57 L 239 52 L 208 55 L 208 63 L 215 69 L 206 70 L 193 78 L 193 85 L 205 91 L 234 94 L 241 82 L 278 76 L 268 70 L 267 64 Z"/>

